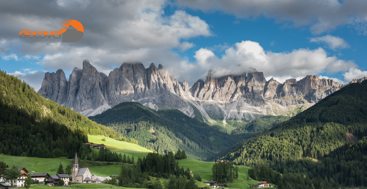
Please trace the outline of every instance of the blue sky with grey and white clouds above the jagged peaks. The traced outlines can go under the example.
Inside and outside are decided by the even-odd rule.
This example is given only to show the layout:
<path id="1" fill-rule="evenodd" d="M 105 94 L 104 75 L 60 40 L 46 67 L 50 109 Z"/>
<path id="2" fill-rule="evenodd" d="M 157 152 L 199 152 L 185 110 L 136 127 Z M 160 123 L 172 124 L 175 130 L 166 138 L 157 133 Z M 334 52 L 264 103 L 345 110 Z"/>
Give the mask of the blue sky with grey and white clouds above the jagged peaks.
<path id="1" fill-rule="evenodd" d="M 89 59 L 108 75 L 123 62 L 162 64 L 191 86 L 208 70 L 217 77 L 254 67 L 279 82 L 306 75 L 346 84 L 367 75 L 364 1 L 55 0 L 3 1 L 0 69 L 36 90 L 44 73 Z M 29 4 L 28 4 L 29 3 Z M 43 11 L 44 10 L 44 11 Z M 75 43 L 27 44 L 28 30 L 58 30 L 66 19 L 84 26 Z"/>

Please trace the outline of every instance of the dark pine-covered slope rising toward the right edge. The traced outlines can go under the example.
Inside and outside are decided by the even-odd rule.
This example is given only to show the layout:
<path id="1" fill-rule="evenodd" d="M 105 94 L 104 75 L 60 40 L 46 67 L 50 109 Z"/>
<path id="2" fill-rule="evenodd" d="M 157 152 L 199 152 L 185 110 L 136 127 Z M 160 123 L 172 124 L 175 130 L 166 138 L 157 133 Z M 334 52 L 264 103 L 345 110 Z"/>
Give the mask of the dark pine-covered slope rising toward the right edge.
<path id="1" fill-rule="evenodd" d="M 364 81 L 345 86 L 273 129 L 241 141 L 225 153 L 224 159 L 250 167 L 264 164 L 280 173 L 299 172 L 317 179 L 317 183 L 323 180 L 324 187 L 333 188 L 333 182 L 366 186 L 366 134 Z M 314 184 L 315 188 L 319 186 Z"/>

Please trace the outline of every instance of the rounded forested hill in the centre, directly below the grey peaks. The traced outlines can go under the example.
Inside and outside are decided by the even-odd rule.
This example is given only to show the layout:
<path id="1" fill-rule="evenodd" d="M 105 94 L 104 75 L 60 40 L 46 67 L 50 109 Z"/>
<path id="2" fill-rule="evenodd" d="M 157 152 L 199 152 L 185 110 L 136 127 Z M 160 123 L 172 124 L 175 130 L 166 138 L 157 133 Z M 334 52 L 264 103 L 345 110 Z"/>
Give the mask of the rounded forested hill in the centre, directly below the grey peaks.
<path id="1" fill-rule="evenodd" d="M 135 102 L 118 104 L 89 118 L 138 140 L 143 147 L 165 153 L 181 148 L 188 157 L 198 160 L 217 158 L 219 153 L 241 140 L 179 110 L 156 111 Z"/>

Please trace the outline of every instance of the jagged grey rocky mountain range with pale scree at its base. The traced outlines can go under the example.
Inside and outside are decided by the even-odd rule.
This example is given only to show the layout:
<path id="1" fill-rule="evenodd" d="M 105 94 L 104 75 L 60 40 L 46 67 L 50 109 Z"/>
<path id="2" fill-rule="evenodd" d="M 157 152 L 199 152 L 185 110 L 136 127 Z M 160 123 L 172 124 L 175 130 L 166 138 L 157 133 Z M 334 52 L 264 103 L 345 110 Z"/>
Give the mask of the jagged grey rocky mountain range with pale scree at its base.
<path id="1" fill-rule="evenodd" d="M 208 71 L 205 81 L 199 79 L 189 88 L 186 81 L 170 77 L 161 64 L 145 68 L 142 63 L 123 63 L 107 76 L 84 60 L 83 68 L 75 67 L 69 81 L 61 69 L 47 72 L 38 93 L 86 116 L 135 101 L 156 110 L 178 109 L 204 121 L 225 123 L 265 115 L 292 116 L 344 86 L 317 75 L 281 84 L 273 78 L 266 81 L 262 72 L 250 68 L 247 74 L 218 78 Z"/>

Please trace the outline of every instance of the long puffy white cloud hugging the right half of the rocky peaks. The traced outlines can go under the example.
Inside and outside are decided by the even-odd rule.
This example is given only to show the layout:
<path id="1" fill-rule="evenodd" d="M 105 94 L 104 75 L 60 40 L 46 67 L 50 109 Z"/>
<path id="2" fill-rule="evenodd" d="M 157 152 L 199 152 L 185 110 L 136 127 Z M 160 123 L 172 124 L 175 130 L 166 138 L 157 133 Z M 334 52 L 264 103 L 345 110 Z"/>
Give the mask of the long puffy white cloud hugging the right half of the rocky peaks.
<path id="1" fill-rule="evenodd" d="M 221 58 L 211 50 L 201 48 L 196 51 L 194 58 L 194 63 L 181 61 L 178 66 L 167 69 L 175 77 L 186 79 L 192 84 L 199 78 L 203 79 L 208 70 L 213 70 L 215 76 L 220 77 L 228 74 L 239 75 L 253 67 L 262 71 L 267 79 L 274 77 L 279 79 L 279 82 L 284 82 L 289 78 L 300 79 L 306 75 L 336 73 L 357 67 L 353 61 L 328 56 L 323 48 L 266 52 L 254 41 L 237 42 L 234 47 L 226 49 Z"/>

